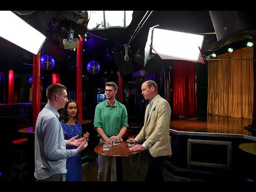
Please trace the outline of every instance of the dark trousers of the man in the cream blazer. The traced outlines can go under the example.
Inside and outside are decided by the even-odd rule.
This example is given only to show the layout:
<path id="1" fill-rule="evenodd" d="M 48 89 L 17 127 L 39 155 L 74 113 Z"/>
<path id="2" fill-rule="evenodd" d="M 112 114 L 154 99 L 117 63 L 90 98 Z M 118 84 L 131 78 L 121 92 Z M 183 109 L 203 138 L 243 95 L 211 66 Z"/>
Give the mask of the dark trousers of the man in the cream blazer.
<path id="1" fill-rule="evenodd" d="M 153 157 L 149 150 L 146 149 L 148 158 L 148 172 L 146 175 L 146 182 L 162 182 L 163 178 L 163 160 L 164 156 Z"/>

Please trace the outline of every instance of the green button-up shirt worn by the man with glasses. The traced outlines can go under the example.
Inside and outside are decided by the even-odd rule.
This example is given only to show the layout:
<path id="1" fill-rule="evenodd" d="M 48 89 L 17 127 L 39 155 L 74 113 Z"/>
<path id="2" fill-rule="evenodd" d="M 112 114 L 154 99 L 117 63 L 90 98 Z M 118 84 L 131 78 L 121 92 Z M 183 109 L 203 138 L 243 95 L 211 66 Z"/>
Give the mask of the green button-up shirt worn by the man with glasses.
<path id="1" fill-rule="evenodd" d="M 117 100 L 112 107 L 109 106 L 107 100 L 105 100 L 99 103 L 95 108 L 94 129 L 102 127 L 108 138 L 113 135 L 116 136 L 123 126 L 127 127 L 127 122 L 126 108 Z"/>

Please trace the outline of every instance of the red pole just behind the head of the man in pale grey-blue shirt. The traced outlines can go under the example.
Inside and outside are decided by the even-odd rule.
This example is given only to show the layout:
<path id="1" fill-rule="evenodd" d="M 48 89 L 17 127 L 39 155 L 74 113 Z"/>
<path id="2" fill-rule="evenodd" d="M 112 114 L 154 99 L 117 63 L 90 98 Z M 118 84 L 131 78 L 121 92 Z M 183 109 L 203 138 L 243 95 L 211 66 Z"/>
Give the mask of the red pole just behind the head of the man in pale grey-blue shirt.
<path id="1" fill-rule="evenodd" d="M 41 111 L 41 67 L 40 67 L 41 51 L 37 55 L 33 55 L 33 127 L 36 127 L 36 119 Z"/>

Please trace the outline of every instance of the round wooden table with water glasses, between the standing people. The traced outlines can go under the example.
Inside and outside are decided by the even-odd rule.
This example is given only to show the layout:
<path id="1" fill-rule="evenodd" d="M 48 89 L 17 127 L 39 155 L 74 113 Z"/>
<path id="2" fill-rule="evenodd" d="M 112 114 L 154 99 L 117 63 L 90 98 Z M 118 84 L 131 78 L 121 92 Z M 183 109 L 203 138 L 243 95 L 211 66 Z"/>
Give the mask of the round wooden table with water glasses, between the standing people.
<path id="1" fill-rule="evenodd" d="M 122 157 L 129 157 L 131 155 L 139 154 L 141 151 L 130 151 L 130 147 L 127 145 L 127 141 L 120 141 L 117 146 L 112 146 L 110 150 L 103 151 L 103 144 L 98 145 L 94 148 L 95 153 L 107 157 L 116 158 L 116 179 L 117 181 L 123 181 L 123 170 L 122 170 Z"/>

